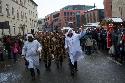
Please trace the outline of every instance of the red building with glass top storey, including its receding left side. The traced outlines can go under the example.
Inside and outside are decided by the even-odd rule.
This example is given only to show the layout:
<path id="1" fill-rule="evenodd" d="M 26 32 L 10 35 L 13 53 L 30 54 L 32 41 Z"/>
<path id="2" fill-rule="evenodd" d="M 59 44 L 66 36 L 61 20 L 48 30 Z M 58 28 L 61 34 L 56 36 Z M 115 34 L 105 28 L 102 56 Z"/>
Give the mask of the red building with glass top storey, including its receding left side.
<path id="1" fill-rule="evenodd" d="M 81 16 L 85 11 L 94 8 L 94 6 L 88 5 L 68 5 L 46 16 L 46 24 L 52 26 L 52 28 L 61 29 L 62 27 L 70 26 L 72 28 L 80 27 L 83 25 Z M 48 20 L 47 20 L 48 19 Z"/>

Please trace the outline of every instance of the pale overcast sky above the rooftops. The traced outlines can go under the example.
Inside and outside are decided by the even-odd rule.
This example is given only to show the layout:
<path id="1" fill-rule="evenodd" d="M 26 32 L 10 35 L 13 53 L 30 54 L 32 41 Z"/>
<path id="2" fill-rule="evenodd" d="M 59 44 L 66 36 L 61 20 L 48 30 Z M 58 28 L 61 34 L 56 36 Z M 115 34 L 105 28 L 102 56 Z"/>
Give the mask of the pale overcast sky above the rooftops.
<path id="1" fill-rule="evenodd" d="M 34 0 L 38 4 L 38 17 L 44 18 L 46 15 L 59 11 L 67 5 L 95 5 L 97 8 L 103 7 L 103 0 Z"/>

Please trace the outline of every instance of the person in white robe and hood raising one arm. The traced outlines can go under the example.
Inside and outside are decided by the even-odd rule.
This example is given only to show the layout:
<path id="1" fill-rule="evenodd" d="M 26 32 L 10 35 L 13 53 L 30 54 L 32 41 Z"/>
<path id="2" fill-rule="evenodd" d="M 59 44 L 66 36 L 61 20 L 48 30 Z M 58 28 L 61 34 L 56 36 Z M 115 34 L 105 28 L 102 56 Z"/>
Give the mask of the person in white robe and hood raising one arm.
<path id="1" fill-rule="evenodd" d="M 82 31 L 82 30 L 81 30 Z M 74 76 L 77 69 L 77 61 L 83 58 L 83 52 L 80 46 L 80 38 L 85 35 L 85 32 L 76 34 L 72 29 L 69 29 L 65 38 L 65 48 L 69 56 L 69 65 L 71 75 Z"/>

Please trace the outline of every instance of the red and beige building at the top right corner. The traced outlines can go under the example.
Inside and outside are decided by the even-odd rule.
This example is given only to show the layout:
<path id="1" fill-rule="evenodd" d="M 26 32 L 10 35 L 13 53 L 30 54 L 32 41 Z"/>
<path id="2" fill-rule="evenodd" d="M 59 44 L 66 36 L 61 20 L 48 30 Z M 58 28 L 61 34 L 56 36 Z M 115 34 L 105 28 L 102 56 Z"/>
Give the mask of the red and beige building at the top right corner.
<path id="1" fill-rule="evenodd" d="M 125 0 L 104 0 L 106 18 L 120 17 L 125 20 Z"/>

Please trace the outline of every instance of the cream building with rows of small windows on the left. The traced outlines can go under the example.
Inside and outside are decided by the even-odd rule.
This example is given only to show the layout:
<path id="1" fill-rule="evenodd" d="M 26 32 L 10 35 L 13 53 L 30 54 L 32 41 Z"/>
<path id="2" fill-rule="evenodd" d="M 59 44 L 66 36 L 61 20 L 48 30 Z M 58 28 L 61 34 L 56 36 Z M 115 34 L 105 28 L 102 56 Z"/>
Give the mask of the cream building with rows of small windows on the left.
<path id="1" fill-rule="evenodd" d="M 37 31 L 37 6 L 33 0 L 0 0 L 0 22 L 8 21 L 10 26 L 0 29 L 0 35 L 15 36 Z"/>

